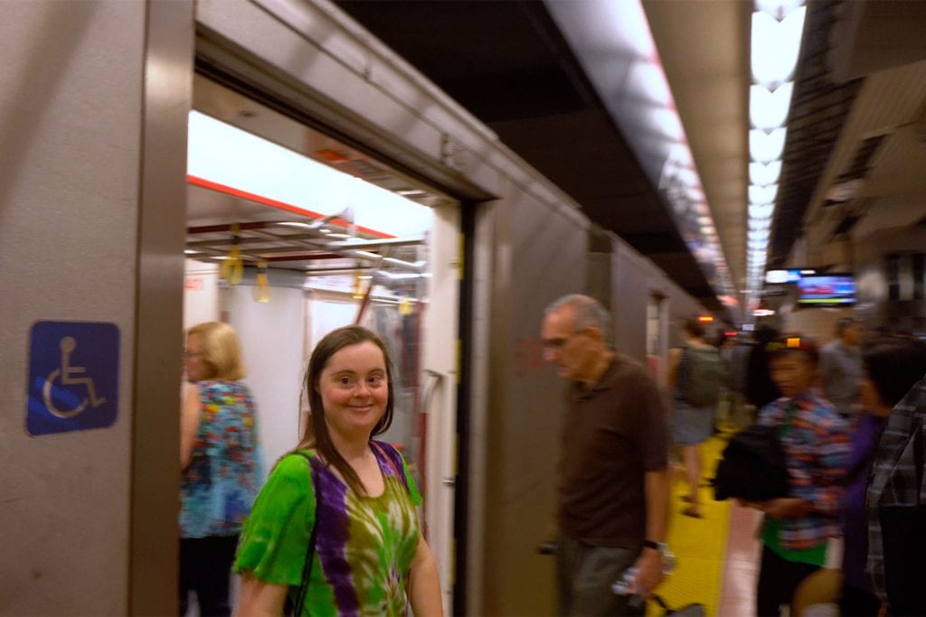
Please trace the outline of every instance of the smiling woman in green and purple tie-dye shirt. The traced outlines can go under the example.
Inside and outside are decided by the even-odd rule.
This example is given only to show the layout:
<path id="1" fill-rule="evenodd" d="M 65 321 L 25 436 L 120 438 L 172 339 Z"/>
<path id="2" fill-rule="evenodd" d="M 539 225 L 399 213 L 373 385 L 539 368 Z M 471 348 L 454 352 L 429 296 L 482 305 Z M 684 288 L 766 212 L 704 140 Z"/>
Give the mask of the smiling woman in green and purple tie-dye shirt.
<path id="1" fill-rule="evenodd" d="M 418 489 L 402 456 L 372 439 L 392 422 L 390 381 L 385 345 L 369 330 L 342 327 L 319 342 L 307 434 L 273 470 L 238 547 L 239 614 L 281 614 L 304 573 L 298 614 L 402 615 L 407 602 L 417 617 L 443 614 Z"/>

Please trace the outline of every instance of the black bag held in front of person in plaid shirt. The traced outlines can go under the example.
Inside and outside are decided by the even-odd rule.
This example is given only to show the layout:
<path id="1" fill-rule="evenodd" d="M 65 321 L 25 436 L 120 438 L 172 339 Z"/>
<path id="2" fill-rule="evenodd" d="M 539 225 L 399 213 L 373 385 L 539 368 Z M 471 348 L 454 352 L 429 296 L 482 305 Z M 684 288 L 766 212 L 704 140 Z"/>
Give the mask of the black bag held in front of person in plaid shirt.
<path id="1" fill-rule="evenodd" d="M 766 501 L 787 497 L 791 476 L 777 426 L 747 426 L 723 449 L 711 485 L 714 499 Z"/>

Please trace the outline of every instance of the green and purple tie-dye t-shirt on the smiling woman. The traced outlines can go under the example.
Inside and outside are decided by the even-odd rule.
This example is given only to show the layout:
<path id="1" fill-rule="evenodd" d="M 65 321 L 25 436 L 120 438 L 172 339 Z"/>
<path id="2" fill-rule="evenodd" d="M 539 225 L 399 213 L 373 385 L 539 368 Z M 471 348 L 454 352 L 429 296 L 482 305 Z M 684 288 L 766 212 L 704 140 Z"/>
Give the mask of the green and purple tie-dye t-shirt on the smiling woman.
<path id="1" fill-rule="evenodd" d="M 358 496 L 309 450 L 308 460 L 283 457 L 244 527 L 235 572 L 299 586 L 318 516 L 301 614 L 404 615 L 408 568 L 419 541 L 415 506 L 421 498 L 402 455 L 376 443 L 382 452 L 372 450 L 385 485 L 379 497 Z"/>

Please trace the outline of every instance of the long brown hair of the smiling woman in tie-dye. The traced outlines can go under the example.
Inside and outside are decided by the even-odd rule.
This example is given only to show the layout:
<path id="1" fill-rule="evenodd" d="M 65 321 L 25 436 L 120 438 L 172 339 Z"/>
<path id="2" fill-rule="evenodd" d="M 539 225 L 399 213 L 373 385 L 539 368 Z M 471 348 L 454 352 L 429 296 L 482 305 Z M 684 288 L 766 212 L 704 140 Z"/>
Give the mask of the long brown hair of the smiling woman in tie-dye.
<path id="1" fill-rule="evenodd" d="M 385 343 L 379 336 L 360 326 L 344 326 L 329 332 L 325 337 L 319 340 L 315 346 L 312 357 L 308 361 L 308 370 L 306 372 L 306 391 L 308 395 L 309 421 L 306 424 L 306 432 L 299 442 L 299 448 L 314 448 L 321 458 L 328 464 L 334 465 L 334 468 L 340 472 L 341 477 L 348 487 L 351 487 L 358 495 L 367 492 L 366 487 L 357 476 L 357 472 L 350 466 L 350 463 L 344 461 L 344 457 L 334 447 L 332 437 L 328 433 L 328 425 L 325 423 L 325 406 L 321 401 L 321 392 L 319 391 L 319 378 L 321 372 L 332 359 L 332 355 L 341 351 L 349 345 L 357 345 L 362 342 L 370 341 L 380 348 L 382 360 L 386 364 L 386 385 L 389 387 L 388 397 L 386 399 L 386 411 L 382 414 L 380 421 L 373 426 L 370 438 L 376 437 L 389 429 L 393 424 L 393 367 L 389 361 L 389 352 L 386 350 Z"/>

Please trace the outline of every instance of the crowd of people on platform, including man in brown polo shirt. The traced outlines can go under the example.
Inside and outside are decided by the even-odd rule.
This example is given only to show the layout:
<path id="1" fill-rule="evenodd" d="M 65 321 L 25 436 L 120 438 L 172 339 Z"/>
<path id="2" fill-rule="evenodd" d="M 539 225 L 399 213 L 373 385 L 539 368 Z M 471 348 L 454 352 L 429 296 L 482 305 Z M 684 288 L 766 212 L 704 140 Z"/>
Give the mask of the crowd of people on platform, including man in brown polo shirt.
<path id="1" fill-rule="evenodd" d="M 644 614 L 632 598 L 651 598 L 671 560 L 670 452 L 684 468 L 681 513 L 701 518 L 699 446 L 717 432 L 721 392 L 727 427 L 767 427 L 786 472 L 785 494 L 740 500 L 762 513 L 756 614 L 802 614 L 795 598 L 817 574 L 835 574 L 839 614 L 926 614 L 911 574 L 921 561 L 910 558 L 926 548 L 911 553 L 892 530 L 920 545 L 913 538 L 926 534 L 922 475 L 910 471 L 921 469 L 911 440 L 926 419 L 926 347 L 866 337 L 852 318 L 822 348 L 769 326 L 715 346 L 691 319 L 669 352 L 663 397 L 614 350 L 610 319 L 571 294 L 547 307 L 541 328 L 545 358 L 569 380 L 555 540 L 544 544 L 556 547 L 560 614 Z"/>

